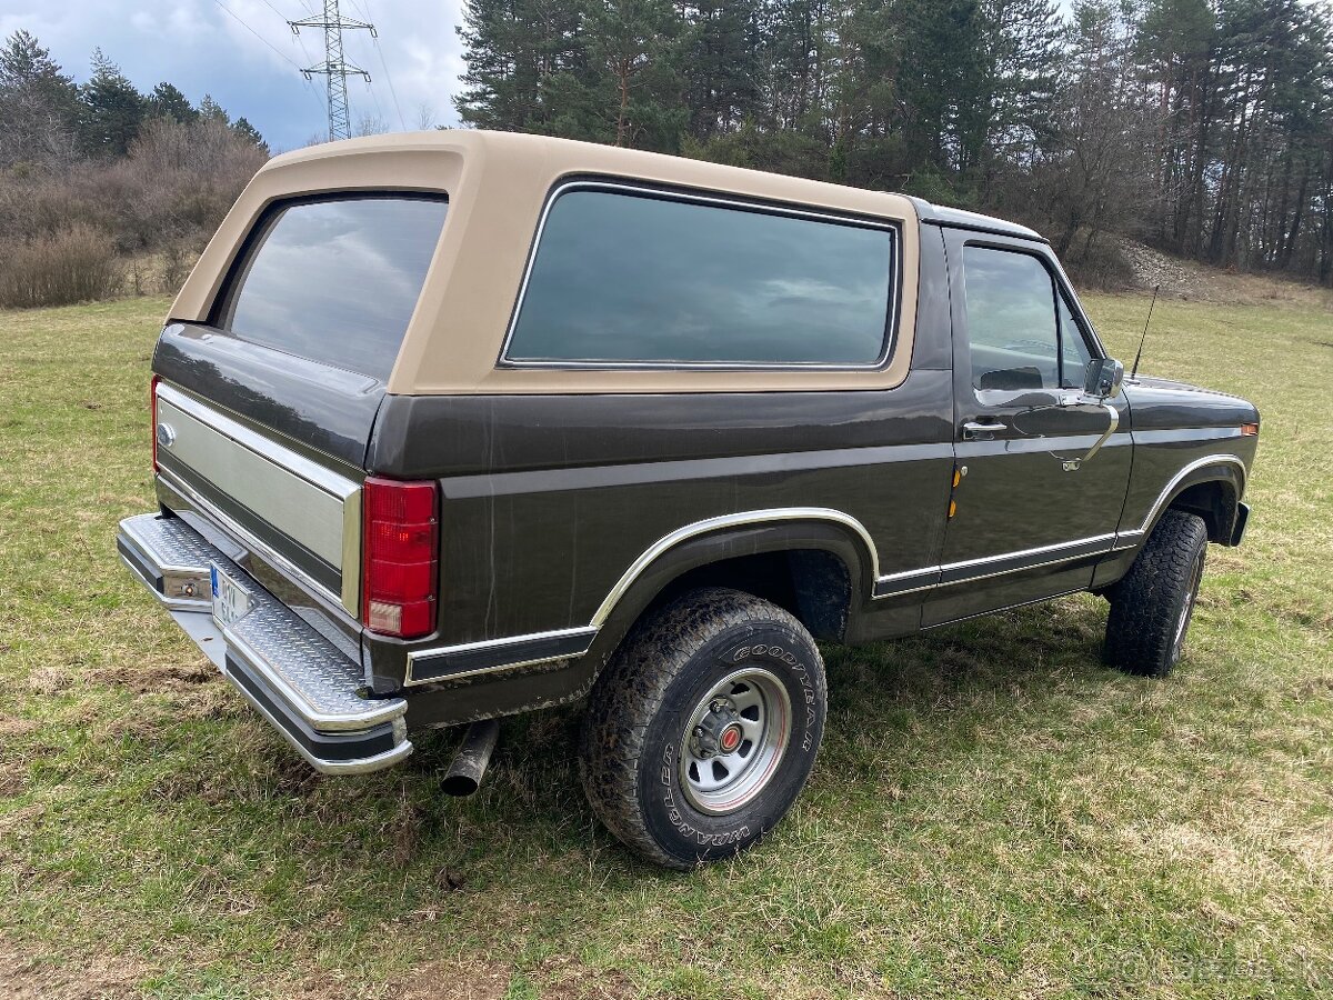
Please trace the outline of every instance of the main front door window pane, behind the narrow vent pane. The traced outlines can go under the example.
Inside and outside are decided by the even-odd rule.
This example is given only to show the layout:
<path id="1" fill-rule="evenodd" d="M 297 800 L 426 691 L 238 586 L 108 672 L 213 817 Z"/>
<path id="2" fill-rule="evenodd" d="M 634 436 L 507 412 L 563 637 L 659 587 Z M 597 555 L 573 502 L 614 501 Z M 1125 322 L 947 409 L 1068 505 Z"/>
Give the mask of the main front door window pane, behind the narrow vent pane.
<path id="1" fill-rule="evenodd" d="M 1037 257 L 989 247 L 962 251 L 964 300 L 976 389 L 1058 389 L 1056 285 Z"/>

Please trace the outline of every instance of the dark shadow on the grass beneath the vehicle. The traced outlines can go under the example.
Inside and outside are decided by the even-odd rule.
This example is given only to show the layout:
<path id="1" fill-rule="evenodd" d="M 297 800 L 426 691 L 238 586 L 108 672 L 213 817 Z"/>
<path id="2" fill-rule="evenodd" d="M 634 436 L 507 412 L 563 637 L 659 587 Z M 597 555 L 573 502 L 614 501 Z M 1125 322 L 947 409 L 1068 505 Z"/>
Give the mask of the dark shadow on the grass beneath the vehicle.
<path id="1" fill-rule="evenodd" d="M 921 637 L 861 648 L 824 647 L 829 715 L 816 783 L 822 781 L 821 772 L 868 787 L 886 777 L 844 767 L 862 756 L 854 744 L 866 735 L 877 745 L 873 769 L 892 769 L 894 748 L 906 752 L 912 740 L 929 743 L 936 753 L 948 753 L 949 747 L 962 752 L 954 731 L 1002 728 L 1020 709 L 1040 725 L 1048 700 L 1064 704 L 1070 693 L 1096 697 L 1101 685 L 1118 676 L 1101 661 L 1105 617 L 1105 604 L 1085 595 Z M 423 804 L 420 832 L 429 837 L 428 829 L 467 827 L 468 857 L 460 864 L 483 868 L 491 857 L 513 849 L 579 855 L 584 868 L 588 852 L 629 860 L 596 824 L 583 797 L 577 772 L 581 713 L 577 703 L 503 720 L 483 788 L 464 800 L 435 791 L 463 727 L 423 733 L 407 765 L 415 789 L 433 795 Z"/>

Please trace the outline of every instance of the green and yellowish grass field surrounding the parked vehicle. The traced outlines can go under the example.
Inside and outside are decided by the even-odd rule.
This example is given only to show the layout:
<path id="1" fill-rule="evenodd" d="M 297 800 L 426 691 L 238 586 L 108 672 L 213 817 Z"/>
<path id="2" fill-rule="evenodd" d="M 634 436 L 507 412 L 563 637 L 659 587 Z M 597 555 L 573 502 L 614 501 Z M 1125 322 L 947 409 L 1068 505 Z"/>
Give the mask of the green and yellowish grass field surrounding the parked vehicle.
<path id="1" fill-rule="evenodd" d="M 1145 371 L 1256 400 L 1241 549 L 1177 673 L 1105 604 L 826 649 L 789 819 L 681 876 L 593 821 L 575 712 L 320 780 L 115 557 L 151 507 L 165 300 L 0 313 L 0 993 L 101 997 L 1328 996 L 1333 312 L 1158 303 Z M 1121 357 L 1141 297 L 1093 297 Z"/>

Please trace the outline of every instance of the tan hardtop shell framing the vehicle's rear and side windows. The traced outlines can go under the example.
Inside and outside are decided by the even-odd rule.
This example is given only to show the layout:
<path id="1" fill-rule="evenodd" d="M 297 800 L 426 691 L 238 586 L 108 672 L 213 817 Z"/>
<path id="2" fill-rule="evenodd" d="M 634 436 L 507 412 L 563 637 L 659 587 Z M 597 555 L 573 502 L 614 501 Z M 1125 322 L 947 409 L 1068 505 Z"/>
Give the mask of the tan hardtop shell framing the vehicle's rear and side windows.
<path id="1" fill-rule="evenodd" d="M 583 176 L 900 223 L 898 333 L 888 363 L 877 369 L 754 372 L 497 367 L 547 199 L 561 180 Z M 437 191 L 449 197 L 444 232 L 389 377 L 391 392 L 889 388 L 906 377 L 918 268 L 917 211 L 910 199 L 702 160 L 511 132 L 391 133 L 313 145 L 275 157 L 255 175 L 223 221 L 172 305 L 171 319 L 207 321 L 232 260 L 268 204 L 343 191 Z"/>

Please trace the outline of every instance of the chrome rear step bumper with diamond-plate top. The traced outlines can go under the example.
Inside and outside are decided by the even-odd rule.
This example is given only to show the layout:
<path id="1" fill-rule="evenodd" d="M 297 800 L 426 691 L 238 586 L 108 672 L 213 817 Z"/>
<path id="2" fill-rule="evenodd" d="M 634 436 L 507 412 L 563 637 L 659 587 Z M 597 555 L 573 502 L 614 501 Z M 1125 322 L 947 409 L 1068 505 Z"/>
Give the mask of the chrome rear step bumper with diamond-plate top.
<path id="1" fill-rule="evenodd" d="M 221 551 L 177 517 L 120 523 L 121 561 L 297 753 L 327 775 L 392 767 L 412 752 L 407 701 L 365 697 L 349 660 Z M 251 592 L 249 612 L 223 628 L 212 616 L 209 563 Z"/>

